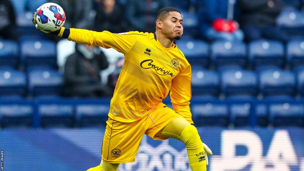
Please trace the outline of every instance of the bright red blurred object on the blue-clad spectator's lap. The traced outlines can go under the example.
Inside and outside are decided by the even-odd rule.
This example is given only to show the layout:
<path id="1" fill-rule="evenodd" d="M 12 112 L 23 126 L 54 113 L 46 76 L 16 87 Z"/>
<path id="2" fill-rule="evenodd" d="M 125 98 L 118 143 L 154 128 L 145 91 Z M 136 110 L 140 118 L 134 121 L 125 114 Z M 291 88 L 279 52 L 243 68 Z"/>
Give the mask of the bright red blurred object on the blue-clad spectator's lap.
<path id="1" fill-rule="evenodd" d="M 218 32 L 233 33 L 239 28 L 239 24 L 233 20 L 226 21 L 225 19 L 219 18 L 212 22 L 212 27 Z"/>

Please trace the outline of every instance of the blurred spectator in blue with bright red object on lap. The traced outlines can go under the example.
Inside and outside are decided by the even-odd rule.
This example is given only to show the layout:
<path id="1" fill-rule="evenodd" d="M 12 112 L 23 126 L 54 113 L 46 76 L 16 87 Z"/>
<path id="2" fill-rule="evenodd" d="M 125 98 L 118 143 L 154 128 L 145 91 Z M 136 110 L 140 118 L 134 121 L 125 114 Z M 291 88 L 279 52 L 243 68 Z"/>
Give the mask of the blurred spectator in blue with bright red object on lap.
<path id="1" fill-rule="evenodd" d="M 201 0 L 202 1 L 202 0 Z M 233 20 L 235 0 L 202 1 L 200 37 L 207 40 L 242 41 L 244 33 L 239 24 Z"/>

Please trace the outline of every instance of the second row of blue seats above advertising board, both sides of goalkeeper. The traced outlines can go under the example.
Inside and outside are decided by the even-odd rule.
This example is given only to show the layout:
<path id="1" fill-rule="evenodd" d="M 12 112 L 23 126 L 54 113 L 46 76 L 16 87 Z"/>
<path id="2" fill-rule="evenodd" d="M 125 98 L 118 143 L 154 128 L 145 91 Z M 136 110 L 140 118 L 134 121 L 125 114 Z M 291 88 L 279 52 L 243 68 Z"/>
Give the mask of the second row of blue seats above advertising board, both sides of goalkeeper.
<path id="1" fill-rule="evenodd" d="M 192 67 L 193 95 L 304 95 L 304 69 L 297 72 L 279 68 L 260 72 L 234 68 L 221 72 Z M 0 96 L 60 96 L 63 75 L 48 67 L 28 72 L 0 68 Z"/>

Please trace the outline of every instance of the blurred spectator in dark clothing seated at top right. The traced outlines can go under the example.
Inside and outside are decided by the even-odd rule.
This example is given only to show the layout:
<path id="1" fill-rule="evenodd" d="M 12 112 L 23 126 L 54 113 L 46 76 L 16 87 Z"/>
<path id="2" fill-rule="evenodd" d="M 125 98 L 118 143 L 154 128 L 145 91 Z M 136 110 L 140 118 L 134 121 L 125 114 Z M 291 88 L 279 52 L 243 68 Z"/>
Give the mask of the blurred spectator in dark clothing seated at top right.
<path id="1" fill-rule="evenodd" d="M 238 0 L 240 26 L 249 42 L 261 38 L 287 42 L 293 37 L 276 26 L 276 19 L 285 7 L 282 0 Z"/>

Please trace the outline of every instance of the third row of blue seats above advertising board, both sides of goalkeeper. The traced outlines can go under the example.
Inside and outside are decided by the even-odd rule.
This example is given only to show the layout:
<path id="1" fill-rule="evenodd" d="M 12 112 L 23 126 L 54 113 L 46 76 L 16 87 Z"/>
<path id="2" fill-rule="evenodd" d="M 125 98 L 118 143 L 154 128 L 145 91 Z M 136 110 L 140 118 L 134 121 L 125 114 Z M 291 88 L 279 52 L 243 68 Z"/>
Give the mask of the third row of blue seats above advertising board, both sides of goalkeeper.
<path id="1" fill-rule="evenodd" d="M 275 40 L 244 42 L 215 41 L 185 38 L 177 41 L 191 65 L 304 65 L 304 40 L 292 40 L 286 47 Z M 20 49 L 20 51 L 19 51 Z M 11 40 L 0 40 L 0 64 L 15 68 L 21 65 L 50 65 L 57 67 L 56 44 L 49 40 L 24 40 L 20 45 Z"/>

